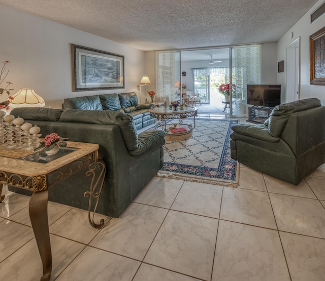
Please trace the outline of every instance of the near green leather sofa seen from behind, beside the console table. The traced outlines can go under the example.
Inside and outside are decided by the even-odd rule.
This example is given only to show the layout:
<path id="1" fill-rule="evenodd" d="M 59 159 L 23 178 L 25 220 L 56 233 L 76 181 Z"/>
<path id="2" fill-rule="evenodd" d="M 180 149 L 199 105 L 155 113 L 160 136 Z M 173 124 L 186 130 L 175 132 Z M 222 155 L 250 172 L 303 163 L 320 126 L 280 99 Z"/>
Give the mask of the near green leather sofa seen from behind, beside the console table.
<path id="1" fill-rule="evenodd" d="M 69 141 L 100 145 L 106 175 L 98 213 L 118 217 L 163 166 L 164 132 L 148 130 L 138 135 L 133 118 L 119 110 L 15 108 L 11 114 L 39 126 L 42 137 L 55 132 Z M 52 185 L 49 200 L 88 210 L 89 199 L 83 196 L 90 186 L 86 170 Z"/>

